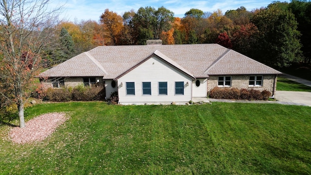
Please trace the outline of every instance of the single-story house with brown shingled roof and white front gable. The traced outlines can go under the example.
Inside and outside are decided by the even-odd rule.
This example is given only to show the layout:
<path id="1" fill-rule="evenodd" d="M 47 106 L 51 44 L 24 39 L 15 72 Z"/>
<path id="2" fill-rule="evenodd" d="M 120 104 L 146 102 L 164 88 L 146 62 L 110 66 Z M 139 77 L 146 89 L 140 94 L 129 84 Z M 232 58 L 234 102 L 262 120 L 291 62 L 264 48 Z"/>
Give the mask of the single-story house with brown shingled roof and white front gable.
<path id="1" fill-rule="evenodd" d="M 119 103 L 187 103 L 214 87 L 276 91 L 281 72 L 218 44 L 99 46 L 42 72 L 45 87 L 102 84 Z"/>

